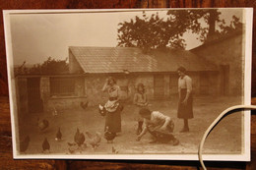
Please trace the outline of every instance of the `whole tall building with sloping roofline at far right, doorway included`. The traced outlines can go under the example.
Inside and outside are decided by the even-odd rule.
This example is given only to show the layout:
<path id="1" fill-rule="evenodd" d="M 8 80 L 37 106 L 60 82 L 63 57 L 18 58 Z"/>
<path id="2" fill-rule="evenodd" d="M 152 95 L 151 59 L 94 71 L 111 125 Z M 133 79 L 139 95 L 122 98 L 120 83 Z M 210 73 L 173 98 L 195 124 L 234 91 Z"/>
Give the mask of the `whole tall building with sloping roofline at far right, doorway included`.
<path id="1" fill-rule="evenodd" d="M 238 30 L 190 50 L 218 66 L 220 94 L 241 95 L 243 92 L 244 39 L 244 33 Z"/>

